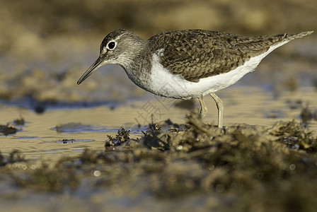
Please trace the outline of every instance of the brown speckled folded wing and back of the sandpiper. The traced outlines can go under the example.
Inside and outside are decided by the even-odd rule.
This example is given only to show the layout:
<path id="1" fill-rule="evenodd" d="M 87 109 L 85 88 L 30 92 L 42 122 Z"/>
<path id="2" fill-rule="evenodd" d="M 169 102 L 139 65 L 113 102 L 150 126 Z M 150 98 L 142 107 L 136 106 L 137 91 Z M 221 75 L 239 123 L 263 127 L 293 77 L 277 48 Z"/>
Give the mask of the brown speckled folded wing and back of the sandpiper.
<path id="1" fill-rule="evenodd" d="M 161 64 L 171 73 L 197 82 L 236 69 L 284 39 L 286 34 L 243 37 L 207 30 L 181 30 L 154 35 L 149 43 L 152 53 L 164 49 Z"/>

